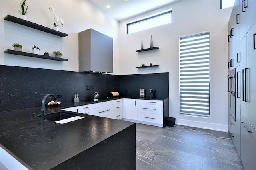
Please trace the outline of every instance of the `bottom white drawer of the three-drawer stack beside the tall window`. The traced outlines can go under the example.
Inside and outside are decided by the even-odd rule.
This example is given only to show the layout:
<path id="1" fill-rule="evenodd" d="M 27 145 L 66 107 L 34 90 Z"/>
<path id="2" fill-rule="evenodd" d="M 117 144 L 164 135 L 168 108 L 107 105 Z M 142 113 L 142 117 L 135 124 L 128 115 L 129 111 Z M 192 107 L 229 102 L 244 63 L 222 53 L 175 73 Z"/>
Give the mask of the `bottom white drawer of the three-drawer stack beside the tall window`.
<path id="1" fill-rule="evenodd" d="M 138 121 L 163 124 L 163 116 L 152 113 L 138 112 Z"/>

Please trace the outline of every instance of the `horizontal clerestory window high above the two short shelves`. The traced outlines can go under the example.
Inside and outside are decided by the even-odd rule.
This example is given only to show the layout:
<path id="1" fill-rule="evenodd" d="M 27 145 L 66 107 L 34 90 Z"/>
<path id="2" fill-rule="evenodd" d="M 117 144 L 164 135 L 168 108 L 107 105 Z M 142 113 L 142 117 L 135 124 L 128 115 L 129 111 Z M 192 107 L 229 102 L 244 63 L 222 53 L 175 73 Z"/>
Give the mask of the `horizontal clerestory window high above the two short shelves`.
<path id="1" fill-rule="evenodd" d="M 172 22 L 172 10 L 155 14 L 154 16 L 148 16 L 146 18 L 133 21 L 126 24 L 127 34 L 142 31 L 152 27 L 164 25 Z"/>

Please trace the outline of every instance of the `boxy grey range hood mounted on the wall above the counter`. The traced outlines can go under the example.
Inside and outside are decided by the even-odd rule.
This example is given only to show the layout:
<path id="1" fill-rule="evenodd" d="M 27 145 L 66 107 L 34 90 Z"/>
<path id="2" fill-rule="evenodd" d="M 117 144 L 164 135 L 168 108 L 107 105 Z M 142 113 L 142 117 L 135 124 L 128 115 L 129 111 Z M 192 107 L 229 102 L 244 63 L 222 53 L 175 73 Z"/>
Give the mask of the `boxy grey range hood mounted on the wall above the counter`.
<path id="1" fill-rule="evenodd" d="M 113 72 L 113 39 L 94 29 L 78 33 L 79 71 Z"/>

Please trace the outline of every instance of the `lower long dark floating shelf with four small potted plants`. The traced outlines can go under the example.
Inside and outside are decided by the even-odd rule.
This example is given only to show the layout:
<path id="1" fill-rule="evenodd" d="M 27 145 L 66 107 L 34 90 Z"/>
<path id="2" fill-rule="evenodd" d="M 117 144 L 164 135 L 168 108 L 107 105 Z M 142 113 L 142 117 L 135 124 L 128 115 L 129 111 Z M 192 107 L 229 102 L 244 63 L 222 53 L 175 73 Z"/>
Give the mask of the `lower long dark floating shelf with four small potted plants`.
<path id="1" fill-rule="evenodd" d="M 57 60 L 57 61 L 68 61 L 68 59 L 52 57 L 52 56 L 47 56 L 47 55 L 39 55 L 39 54 L 34 54 L 34 53 L 26 53 L 26 52 L 22 52 L 22 51 L 15 51 L 15 50 L 9 50 L 9 49 L 4 51 L 4 53 L 15 54 L 15 55 L 23 55 L 23 56 L 28 56 L 28 57 L 36 57 L 36 58 L 41 58 L 41 59 L 50 59 L 50 60 Z"/>

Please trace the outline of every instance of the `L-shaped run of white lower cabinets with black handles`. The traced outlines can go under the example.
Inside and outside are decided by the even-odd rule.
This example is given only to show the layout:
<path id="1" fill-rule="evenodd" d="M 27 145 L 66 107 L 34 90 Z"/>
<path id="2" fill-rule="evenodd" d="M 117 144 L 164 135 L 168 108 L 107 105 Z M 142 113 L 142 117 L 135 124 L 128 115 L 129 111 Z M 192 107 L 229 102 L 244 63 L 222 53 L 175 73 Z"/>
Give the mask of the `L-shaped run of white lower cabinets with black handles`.
<path id="1" fill-rule="evenodd" d="M 164 111 L 164 101 L 166 111 Z M 168 99 L 144 100 L 123 98 L 62 110 L 165 127 L 166 123 L 164 121 L 169 116 L 168 104 Z"/>

